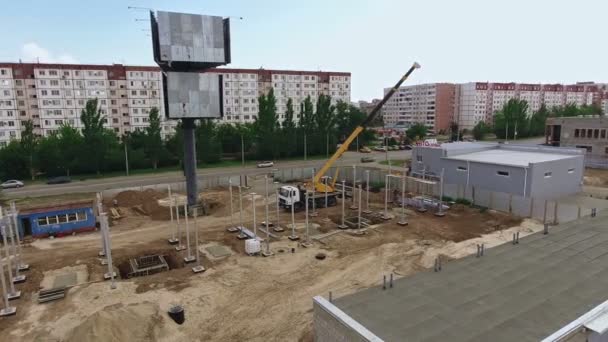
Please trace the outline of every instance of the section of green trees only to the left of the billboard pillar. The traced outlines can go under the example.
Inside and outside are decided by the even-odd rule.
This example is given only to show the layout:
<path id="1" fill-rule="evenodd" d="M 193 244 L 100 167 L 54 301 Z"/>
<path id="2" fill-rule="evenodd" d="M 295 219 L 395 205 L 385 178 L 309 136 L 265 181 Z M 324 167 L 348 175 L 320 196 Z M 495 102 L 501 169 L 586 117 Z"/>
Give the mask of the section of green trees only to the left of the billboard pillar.
<path id="1" fill-rule="evenodd" d="M 46 137 L 35 135 L 32 121 L 25 121 L 21 140 L 13 140 L 0 150 L 0 177 L 34 179 L 40 174 L 50 177 L 124 170 L 125 148 L 133 168 L 156 168 L 161 161 L 169 165 L 175 159 L 161 139 L 157 108 L 150 110 L 149 127 L 121 138 L 104 127 L 105 118 L 96 99 L 87 101 L 80 120 L 82 130 L 62 125 Z"/>

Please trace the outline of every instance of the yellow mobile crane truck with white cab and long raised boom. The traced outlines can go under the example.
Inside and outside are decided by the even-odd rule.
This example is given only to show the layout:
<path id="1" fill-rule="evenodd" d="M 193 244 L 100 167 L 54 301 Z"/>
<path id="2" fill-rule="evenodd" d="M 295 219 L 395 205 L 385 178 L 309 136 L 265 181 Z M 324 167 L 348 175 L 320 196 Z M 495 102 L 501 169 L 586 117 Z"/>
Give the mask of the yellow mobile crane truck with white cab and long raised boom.
<path id="1" fill-rule="evenodd" d="M 324 198 L 325 193 L 329 193 L 331 194 L 331 198 L 328 201 L 328 205 L 335 205 L 336 204 L 336 196 L 337 193 L 335 191 L 335 185 L 336 185 L 336 180 L 338 178 L 338 169 L 336 169 L 336 173 L 331 181 L 331 183 L 327 183 L 327 182 L 322 182 L 321 180 L 323 179 L 323 177 L 325 176 L 325 173 L 333 166 L 333 164 L 336 162 L 336 160 L 338 160 L 342 154 L 344 154 L 344 152 L 346 152 L 348 150 L 348 147 L 350 146 L 350 144 L 357 138 L 357 136 L 359 134 L 361 134 L 361 132 L 363 132 L 363 130 L 365 129 L 365 127 L 378 115 L 378 113 L 380 112 L 380 109 L 382 109 L 382 106 L 384 106 L 384 104 L 393 96 L 393 94 L 395 94 L 395 92 L 397 92 L 397 90 L 399 90 L 399 87 L 401 86 L 401 84 L 403 82 L 405 82 L 405 80 L 408 79 L 408 77 L 414 72 L 414 70 L 420 68 L 420 64 L 418 63 L 414 63 L 410 69 L 405 73 L 405 75 L 403 75 L 403 77 L 401 77 L 401 79 L 399 80 L 399 82 L 397 82 L 397 84 L 395 84 L 394 87 L 391 88 L 391 90 L 389 90 L 385 95 L 384 98 L 382 99 L 382 101 L 380 101 L 376 107 L 374 107 L 374 109 L 371 111 L 371 113 L 369 113 L 369 115 L 367 116 L 367 118 L 365 118 L 365 120 L 359 125 L 357 126 L 357 128 L 355 128 L 355 130 L 350 134 L 350 136 L 348 136 L 348 138 L 346 138 L 346 140 L 342 143 L 342 145 L 340 145 L 340 147 L 336 150 L 336 152 L 331 156 L 331 158 L 329 158 L 327 160 L 327 162 L 325 162 L 325 165 L 323 165 L 323 167 L 321 169 L 319 169 L 319 171 L 314 175 L 313 179 L 312 179 L 312 184 L 306 184 L 305 188 L 300 188 L 298 187 L 294 187 L 291 185 L 286 185 L 281 187 L 280 191 L 279 191 L 279 204 L 281 205 L 281 207 L 284 208 L 291 208 L 292 205 L 294 205 L 297 209 L 301 209 L 304 207 L 304 195 L 303 195 L 303 191 L 312 191 L 312 188 L 310 188 L 311 186 L 314 187 L 316 193 L 318 195 L 321 195 L 321 198 Z M 318 204 L 318 206 L 322 206 L 321 204 L 324 203 L 324 201 L 317 201 L 316 198 L 312 198 L 312 196 L 308 196 L 309 201 L 316 201 L 316 203 Z"/>

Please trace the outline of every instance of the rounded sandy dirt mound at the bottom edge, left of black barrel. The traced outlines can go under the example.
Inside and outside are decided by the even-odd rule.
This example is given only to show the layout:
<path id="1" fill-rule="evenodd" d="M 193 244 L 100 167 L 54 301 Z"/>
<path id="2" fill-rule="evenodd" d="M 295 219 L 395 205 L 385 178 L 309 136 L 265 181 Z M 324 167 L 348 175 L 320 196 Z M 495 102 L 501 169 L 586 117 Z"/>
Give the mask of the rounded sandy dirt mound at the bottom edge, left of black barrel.
<path id="1" fill-rule="evenodd" d="M 111 305 L 89 316 L 65 341 L 156 341 L 165 318 L 157 304 Z"/>

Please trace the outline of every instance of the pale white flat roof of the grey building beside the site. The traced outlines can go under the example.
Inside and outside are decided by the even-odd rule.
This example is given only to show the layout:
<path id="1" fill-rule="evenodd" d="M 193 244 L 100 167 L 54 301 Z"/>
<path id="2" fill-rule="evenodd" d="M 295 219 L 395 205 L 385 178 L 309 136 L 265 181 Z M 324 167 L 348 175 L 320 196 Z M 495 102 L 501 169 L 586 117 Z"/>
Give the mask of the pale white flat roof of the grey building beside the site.
<path id="1" fill-rule="evenodd" d="M 530 163 L 540 163 L 576 157 L 578 157 L 578 155 L 547 152 L 528 152 L 498 148 L 486 151 L 457 154 L 454 156 L 445 157 L 445 159 L 511 166 L 528 166 Z"/>

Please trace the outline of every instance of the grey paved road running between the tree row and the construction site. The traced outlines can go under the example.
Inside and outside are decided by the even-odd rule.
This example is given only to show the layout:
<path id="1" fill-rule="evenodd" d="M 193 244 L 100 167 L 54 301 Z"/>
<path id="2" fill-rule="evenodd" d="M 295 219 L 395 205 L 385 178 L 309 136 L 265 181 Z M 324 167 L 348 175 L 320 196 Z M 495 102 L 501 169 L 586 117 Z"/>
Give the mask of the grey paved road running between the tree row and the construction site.
<path id="1" fill-rule="evenodd" d="M 337 165 L 353 165 L 360 164 L 360 159 L 362 156 L 371 156 L 376 159 L 377 162 L 384 160 L 385 153 L 382 152 L 374 152 L 374 153 L 357 153 L 357 152 L 347 152 L 342 156 L 342 158 L 338 161 Z M 390 151 L 389 158 L 391 159 L 404 159 L 409 158 L 411 156 L 410 151 Z M 289 162 L 278 162 L 275 164 L 275 168 L 299 168 L 299 167 L 310 167 L 310 166 L 321 166 L 325 160 L 298 160 L 298 161 L 289 161 Z M 376 163 L 370 163 L 366 165 L 374 165 L 378 166 Z M 197 175 L 199 179 L 209 176 L 227 176 L 227 175 L 254 175 L 267 173 L 271 171 L 271 169 L 258 169 L 254 166 L 246 166 L 245 168 L 241 168 L 238 166 L 231 167 L 218 167 L 218 168 L 209 168 L 209 169 L 201 169 L 198 170 Z M 134 176 L 120 176 L 120 177 L 110 177 L 110 178 L 100 178 L 100 179 L 91 179 L 85 181 L 75 181 L 69 184 L 57 184 L 57 185 L 48 185 L 48 184 L 37 184 L 37 185 L 29 185 L 20 189 L 8 189 L 4 190 L 3 193 L 6 197 L 15 198 L 15 197 L 39 197 L 39 196 L 48 196 L 48 195 L 61 195 L 61 194 L 69 194 L 69 193 L 77 193 L 77 192 L 98 192 L 107 189 L 116 189 L 116 188 L 124 188 L 124 187 L 134 187 L 134 186 L 144 186 L 151 184 L 160 184 L 160 183 L 174 183 L 174 182 L 182 182 L 184 181 L 184 176 L 179 171 L 171 171 L 171 172 L 163 172 L 157 174 L 148 174 L 148 175 L 134 175 Z"/>

